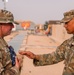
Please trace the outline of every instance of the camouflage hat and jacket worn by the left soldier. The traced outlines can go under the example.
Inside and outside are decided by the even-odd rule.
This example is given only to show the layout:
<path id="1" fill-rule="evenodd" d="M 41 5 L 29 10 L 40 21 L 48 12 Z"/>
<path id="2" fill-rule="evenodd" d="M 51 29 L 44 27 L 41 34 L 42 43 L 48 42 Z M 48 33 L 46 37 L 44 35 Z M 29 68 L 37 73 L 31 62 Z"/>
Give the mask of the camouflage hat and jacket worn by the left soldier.
<path id="1" fill-rule="evenodd" d="M 0 9 L 0 23 L 15 23 L 13 14 Z M 19 75 L 19 69 L 12 66 L 10 51 L 3 38 L 0 38 L 0 75 Z"/>

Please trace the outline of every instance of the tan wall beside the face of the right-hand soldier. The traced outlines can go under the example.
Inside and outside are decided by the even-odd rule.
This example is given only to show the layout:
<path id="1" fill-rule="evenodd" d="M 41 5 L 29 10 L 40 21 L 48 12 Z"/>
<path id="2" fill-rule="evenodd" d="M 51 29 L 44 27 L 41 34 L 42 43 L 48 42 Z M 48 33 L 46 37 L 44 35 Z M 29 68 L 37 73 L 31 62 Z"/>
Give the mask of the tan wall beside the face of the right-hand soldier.
<path id="1" fill-rule="evenodd" d="M 52 25 L 52 38 L 62 43 L 65 39 L 70 38 L 72 35 L 67 34 L 63 24 Z"/>

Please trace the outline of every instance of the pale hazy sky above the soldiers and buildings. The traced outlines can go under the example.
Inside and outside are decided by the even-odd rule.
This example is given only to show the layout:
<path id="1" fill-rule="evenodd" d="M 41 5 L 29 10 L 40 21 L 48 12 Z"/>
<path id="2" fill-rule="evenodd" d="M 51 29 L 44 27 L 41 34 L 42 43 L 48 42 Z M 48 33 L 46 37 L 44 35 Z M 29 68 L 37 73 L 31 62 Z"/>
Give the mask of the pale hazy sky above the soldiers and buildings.
<path id="1" fill-rule="evenodd" d="M 0 8 L 4 8 L 2 0 Z M 14 14 L 15 20 L 44 24 L 49 20 L 61 20 L 65 11 L 74 9 L 74 0 L 8 0 L 6 9 Z"/>

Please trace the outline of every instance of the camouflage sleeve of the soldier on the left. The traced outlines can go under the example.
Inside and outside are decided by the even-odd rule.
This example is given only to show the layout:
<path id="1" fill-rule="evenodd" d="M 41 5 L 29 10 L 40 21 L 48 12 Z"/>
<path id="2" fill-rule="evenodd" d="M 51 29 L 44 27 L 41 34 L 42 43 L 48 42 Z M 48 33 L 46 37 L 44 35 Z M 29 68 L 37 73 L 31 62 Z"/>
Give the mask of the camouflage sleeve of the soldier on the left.
<path id="1" fill-rule="evenodd" d="M 3 58 L 2 52 L 0 51 L 0 75 L 19 75 L 19 69 L 15 66 L 12 67 L 11 65 L 5 64 L 7 67 L 3 66 Z"/>

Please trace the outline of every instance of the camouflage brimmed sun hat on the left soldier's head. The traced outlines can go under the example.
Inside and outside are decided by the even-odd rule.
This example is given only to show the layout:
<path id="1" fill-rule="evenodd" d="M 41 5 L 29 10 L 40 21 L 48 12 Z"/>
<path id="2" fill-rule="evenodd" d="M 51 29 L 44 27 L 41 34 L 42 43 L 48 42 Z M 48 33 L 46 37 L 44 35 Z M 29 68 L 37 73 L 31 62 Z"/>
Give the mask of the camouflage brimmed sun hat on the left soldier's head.
<path id="1" fill-rule="evenodd" d="M 14 16 L 10 11 L 0 9 L 0 23 L 15 23 Z"/>

